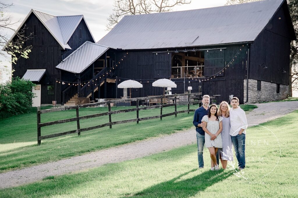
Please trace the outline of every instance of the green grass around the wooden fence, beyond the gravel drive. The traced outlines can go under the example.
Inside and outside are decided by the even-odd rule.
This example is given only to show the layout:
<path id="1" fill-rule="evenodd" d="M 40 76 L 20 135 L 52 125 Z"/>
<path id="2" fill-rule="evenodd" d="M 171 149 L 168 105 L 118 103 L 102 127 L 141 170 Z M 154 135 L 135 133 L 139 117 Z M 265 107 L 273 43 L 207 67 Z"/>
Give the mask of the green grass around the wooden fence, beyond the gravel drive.
<path id="1" fill-rule="evenodd" d="M 112 110 L 119 110 L 128 107 L 112 107 Z M 196 106 L 191 105 L 195 109 Z M 245 105 L 249 110 L 254 106 Z M 177 110 L 185 110 L 187 106 L 177 106 Z M 163 113 L 173 112 L 174 107 L 163 108 Z M 107 107 L 82 108 L 80 116 L 106 112 Z M 41 122 L 60 120 L 75 117 L 75 110 L 60 111 L 41 114 Z M 160 109 L 139 111 L 139 117 L 160 115 Z M 136 118 L 136 112 L 113 114 L 112 121 L 127 120 Z M 193 127 L 193 112 L 190 114 L 181 113 L 177 118 L 168 116 L 158 119 L 140 121 L 136 123 L 125 123 L 113 125 L 112 129 L 104 127 L 88 132 L 61 136 L 57 138 L 42 140 L 37 146 L 37 124 L 36 113 L 13 116 L 0 121 L 0 172 L 28 167 L 49 161 L 78 156 L 91 151 L 122 145 L 137 140 L 144 140 L 148 137 L 155 137 L 162 134 L 171 134 L 176 131 Z M 108 116 L 91 118 L 80 121 L 80 127 L 96 126 L 108 123 Z M 57 124 L 41 128 L 41 135 L 54 134 L 74 130 L 76 122 Z"/>

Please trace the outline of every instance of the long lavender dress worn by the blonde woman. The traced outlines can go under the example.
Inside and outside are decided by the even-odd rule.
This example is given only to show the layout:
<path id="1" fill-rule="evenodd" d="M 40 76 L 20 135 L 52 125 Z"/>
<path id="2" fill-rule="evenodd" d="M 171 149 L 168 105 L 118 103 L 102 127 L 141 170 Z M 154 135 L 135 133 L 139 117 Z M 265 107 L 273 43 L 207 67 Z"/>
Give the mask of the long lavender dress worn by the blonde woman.
<path id="1" fill-rule="evenodd" d="M 221 138 L 223 142 L 223 148 L 218 148 L 218 151 L 220 152 L 221 159 L 233 161 L 233 151 L 232 151 L 232 139 L 230 136 L 230 129 L 231 129 L 231 123 L 230 123 L 230 117 L 225 118 L 222 117 L 222 123 L 223 123 L 223 130 L 221 132 Z"/>

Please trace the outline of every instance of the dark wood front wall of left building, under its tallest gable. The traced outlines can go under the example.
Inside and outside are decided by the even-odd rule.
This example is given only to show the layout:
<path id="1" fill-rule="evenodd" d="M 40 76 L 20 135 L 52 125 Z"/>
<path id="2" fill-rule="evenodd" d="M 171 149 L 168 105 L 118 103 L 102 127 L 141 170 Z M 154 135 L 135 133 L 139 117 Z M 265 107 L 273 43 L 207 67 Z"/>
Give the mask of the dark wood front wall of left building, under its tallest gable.
<path id="1" fill-rule="evenodd" d="M 29 58 L 19 58 L 16 64 L 12 64 L 15 69 L 14 76 L 23 77 L 27 69 L 46 69 L 46 73 L 41 81 L 35 82 L 41 84 L 41 104 L 51 104 L 55 100 L 55 95 L 48 95 L 47 86 L 55 85 L 55 79 L 60 79 L 60 71 L 55 69 L 61 61 L 61 50 L 59 43 L 46 29 L 46 27 L 32 13 L 26 21 L 25 35 L 29 36 L 33 32 L 33 26 L 37 25 L 37 35 L 27 40 L 24 46 L 32 45 Z M 22 27 L 23 28 L 23 27 Z M 60 92 L 58 86 L 57 93 Z M 60 97 L 57 97 L 58 103 Z"/>

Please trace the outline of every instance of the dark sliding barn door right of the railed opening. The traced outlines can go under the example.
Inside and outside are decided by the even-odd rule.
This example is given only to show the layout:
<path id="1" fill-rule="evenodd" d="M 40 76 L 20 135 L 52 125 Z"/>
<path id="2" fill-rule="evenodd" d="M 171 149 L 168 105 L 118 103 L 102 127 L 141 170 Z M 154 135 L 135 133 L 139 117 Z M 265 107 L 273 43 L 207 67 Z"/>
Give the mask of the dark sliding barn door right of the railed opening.
<path id="1" fill-rule="evenodd" d="M 204 76 L 224 76 L 221 72 L 224 68 L 224 49 L 222 50 L 206 50 L 205 51 L 205 62 L 204 62 Z M 218 73 L 218 74 L 217 74 Z"/>

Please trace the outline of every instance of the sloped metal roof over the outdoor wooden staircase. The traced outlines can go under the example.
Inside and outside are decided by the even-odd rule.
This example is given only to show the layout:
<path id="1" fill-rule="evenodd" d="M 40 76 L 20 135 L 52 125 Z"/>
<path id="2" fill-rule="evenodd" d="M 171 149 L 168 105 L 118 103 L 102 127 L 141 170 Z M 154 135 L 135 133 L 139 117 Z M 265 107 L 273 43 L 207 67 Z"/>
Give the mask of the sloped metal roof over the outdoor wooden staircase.
<path id="1" fill-rule="evenodd" d="M 107 46 L 86 41 L 58 64 L 56 68 L 72 73 L 81 73 L 108 49 Z"/>

